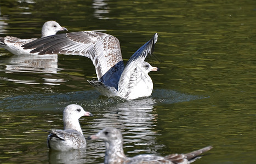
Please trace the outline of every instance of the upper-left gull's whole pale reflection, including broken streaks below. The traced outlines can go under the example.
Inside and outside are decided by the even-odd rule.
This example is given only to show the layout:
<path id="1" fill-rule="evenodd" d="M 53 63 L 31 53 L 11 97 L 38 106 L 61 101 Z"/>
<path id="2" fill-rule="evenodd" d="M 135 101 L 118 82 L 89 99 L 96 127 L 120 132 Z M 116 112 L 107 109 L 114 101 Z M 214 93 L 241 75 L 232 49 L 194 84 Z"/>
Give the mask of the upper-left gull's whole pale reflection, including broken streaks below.
<path id="1" fill-rule="evenodd" d="M 58 68 L 58 55 L 14 55 L 2 61 L 2 71 L 8 74 L 13 73 L 47 73 L 39 80 L 19 79 L 16 76 L 0 77 L 1 80 L 13 81 L 21 84 L 45 84 L 45 85 L 60 85 L 65 82 L 63 79 L 55 79 L 52 74 L 61 71 Z M 0 69 L 1 71 L 1 69 Z M 46 77 L 47 76 L 47 77 Z M 30 75 L 31 77 L 31 75 Z M 52 78 L 51 78 L 52 77 Z"/>

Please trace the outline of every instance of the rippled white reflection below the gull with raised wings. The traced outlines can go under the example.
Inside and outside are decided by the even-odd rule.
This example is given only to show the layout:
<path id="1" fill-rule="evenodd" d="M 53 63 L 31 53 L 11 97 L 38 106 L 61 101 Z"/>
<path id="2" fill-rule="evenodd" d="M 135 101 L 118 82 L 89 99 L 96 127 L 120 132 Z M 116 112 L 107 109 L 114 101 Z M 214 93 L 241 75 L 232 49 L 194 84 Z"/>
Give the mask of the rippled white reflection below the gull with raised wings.
<path id="1" fill-rule="evenodd" d="M 128 153 L 156 153 L 157 149 L 164 146 L 157 143 L 157 132 L 154 130 L 157 122 L 157 114 L 154 112 L 153 104 L 155 99 L 143 98 L 133 101 L 117 103 L 116 106 L 110 106 L 99 119 L 94 119 L 92 131 L 98 132 L 106 126 L 116 127 L 123 133 L 124 148 L 141 146 L 141 149 L 132 149 Z M 105 108 L 107 108 L 105 106 Z M 92 132 L 93 134 L 93 132 Z M 104 144 L 87 142 L 88 149 L 98 151 L 99 156 L 104 156 Z M 152 145 L 158 145 L 152 150 Z"/>

